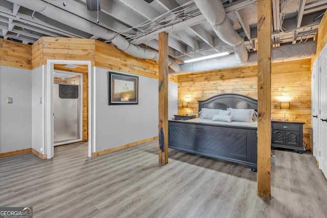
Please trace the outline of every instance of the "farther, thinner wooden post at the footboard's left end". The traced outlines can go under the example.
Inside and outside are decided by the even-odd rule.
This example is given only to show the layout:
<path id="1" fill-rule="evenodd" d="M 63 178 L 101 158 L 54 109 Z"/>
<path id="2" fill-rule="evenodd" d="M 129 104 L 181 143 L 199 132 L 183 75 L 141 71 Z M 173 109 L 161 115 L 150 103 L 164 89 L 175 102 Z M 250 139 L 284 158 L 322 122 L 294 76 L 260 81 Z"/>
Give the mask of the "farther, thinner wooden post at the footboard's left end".
<path id="1" fill-rule="evenodd" d="M 168 33 L 159 33 L 159 163 L 168 163 Z"/>

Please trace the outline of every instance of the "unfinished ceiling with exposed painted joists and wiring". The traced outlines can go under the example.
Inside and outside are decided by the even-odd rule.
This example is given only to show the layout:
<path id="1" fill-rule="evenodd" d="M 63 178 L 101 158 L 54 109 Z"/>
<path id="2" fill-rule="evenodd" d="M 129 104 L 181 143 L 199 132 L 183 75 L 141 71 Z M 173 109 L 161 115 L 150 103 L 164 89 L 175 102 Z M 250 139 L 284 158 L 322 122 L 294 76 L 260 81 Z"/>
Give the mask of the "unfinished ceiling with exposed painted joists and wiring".
<path id="1" fill-rule="evenodd" d="M 86 0 L 1 0 L 1 36 L 22 43 L 34 43 L 42 36 L 57 36 L 92 38 L 115 45 L 121 41 L 117 37 L 120 36 L 132 45 L 157 50 L 158 33 L 165 31 L 169 33 L 169 56 L 177 64 L 192 58 L 235 52 L 235 46 L 218 37 L 212 23 L 207 21 L 210 15 L 205 15 L 199 7 L 203 2 L 220 4 L 220 0 L 99 2 L 100 10 L 90 11 Z M 244 39 L 247 52 L 257 49 L 257 2 L 221 1 L 232 29 Z M 326 8 L 327 0 L 272 0 L 272 46 L 316 40 Z"/>

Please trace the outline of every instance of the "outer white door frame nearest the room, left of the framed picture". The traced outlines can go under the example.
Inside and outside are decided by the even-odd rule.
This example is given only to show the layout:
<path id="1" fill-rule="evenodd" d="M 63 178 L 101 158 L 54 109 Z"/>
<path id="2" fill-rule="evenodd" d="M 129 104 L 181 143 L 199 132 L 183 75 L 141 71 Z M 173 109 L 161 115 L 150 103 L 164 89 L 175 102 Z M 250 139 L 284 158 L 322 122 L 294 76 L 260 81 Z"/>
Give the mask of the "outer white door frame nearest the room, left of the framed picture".
<path id="1" fill-rule="evenodd" d="M 79 61 L 79 60 L 47 60 L 46 61 L 46 78 L 45 78 L 45 90 L 44 90 L 44 133 L 45 133 L 45 147 L 47 158 L 54 157 L 54 108 L 53 108 L 53 83 L 54 83 L 54 65 L 55 64 L 81 64 L 88 65 L 88 157 L 91 157 L 92 153 L 92 78 L 91 78 L 91 61 Z"/>

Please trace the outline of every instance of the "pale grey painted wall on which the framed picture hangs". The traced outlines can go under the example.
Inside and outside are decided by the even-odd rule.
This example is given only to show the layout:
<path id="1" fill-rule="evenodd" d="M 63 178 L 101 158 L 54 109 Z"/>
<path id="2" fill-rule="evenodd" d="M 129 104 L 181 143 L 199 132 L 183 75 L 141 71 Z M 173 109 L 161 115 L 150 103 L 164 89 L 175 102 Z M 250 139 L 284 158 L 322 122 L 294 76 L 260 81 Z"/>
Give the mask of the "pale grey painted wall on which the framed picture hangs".
<path id="1" fill-rule="evenodd" d="M 96 152 L 158 135 L 158 80 L 138 76 L 138 105 L 108 105 L 108 71 L 94 70 Z M 169 87 L 171 117 L 177 113 L 177 84 Z"/>

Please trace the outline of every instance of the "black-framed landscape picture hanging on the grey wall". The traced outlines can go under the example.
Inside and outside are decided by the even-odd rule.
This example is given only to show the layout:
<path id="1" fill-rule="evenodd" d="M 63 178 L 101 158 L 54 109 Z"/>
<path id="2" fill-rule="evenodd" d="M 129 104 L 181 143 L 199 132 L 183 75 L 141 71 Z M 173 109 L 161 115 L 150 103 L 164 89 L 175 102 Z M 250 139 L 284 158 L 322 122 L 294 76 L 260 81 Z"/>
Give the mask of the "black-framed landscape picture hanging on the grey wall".
<path id="1" fill-rule="evenodd" d="M 109 105 L 137 105 L 138 77 L 109 71 Z"/>

